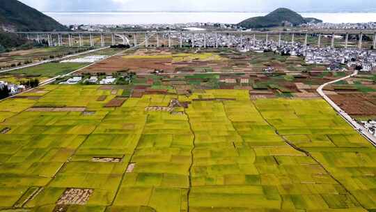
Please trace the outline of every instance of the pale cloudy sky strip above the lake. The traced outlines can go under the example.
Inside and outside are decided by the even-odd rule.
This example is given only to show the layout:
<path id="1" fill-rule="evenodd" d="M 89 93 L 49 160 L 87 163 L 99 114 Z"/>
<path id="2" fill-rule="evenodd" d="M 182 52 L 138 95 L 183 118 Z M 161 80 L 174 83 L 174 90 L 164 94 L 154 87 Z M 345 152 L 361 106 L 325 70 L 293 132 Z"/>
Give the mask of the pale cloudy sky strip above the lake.
<path id="1" fill-rule="evenodd" d="M 21 0 L 42 11 L 376 11 L 375 0 Z"/>

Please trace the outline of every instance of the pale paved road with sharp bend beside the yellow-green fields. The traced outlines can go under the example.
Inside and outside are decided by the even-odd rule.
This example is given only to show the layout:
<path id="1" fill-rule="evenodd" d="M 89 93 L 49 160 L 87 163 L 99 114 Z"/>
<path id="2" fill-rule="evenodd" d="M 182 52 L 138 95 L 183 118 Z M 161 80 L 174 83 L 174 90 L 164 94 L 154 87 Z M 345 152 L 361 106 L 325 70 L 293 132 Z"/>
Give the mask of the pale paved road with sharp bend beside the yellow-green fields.
<path id="1" fill-rule="evenodd" d="M 373 146 L 376 146 L 376 137 L 374 135 L 372 135 L 370 132 L 368 132 L 368 130 L 366 128 L 364 128 L 359 123 L 357 123 L 357 121 L 355 121 L 354 119 L 352 119 L 352 117 L 349 114 L 347 114 L 345 111 L 343 111 L 343 109 L 340 109 L 340 107 L 338 107 L 338 105 L 336 105 L 336 103 L 334 103 L 334 101 L 332 101 L 324 93 L 324 91 L 322 91 L 322 89 L 324 89 L 324 87 L 327 86 L 327 85 L 329 85 L 329 84 L 334 84 L 334 83 L 339 82 L 341 80 L 348 79 L 350 77 L 354 77 L 357 74 L 358 74 L 358 71 L 356 70 L 356 71 L 354 71 L 354 73 L 352 75 L 348 75 L 346 77 L 343 77 L 343 78 L 340 78 L 340 79 L 336 79 L 334 81 L 322 84 L 322 86 L 320 86 L 318 88 L 318 93 L 320 94 L 320 96 L 322 96 L 322 98 L 324 98 L 324 100 L 327 101 L 327 103 L 329 103 L 329 105 L 331 105 L 331 107 L 333 107 L 340 114 L 340 116 L 343 117 L 343 119 L 345 119 L 345 121 L 347 121 L 348 123 L 350 123 L 355 130 L 357 130 L 361 135 L 363 135 L 363 137 L 366 137 L 366 139 L 368 139 L 368 141 L 371 144 L 373 144 Z"/>

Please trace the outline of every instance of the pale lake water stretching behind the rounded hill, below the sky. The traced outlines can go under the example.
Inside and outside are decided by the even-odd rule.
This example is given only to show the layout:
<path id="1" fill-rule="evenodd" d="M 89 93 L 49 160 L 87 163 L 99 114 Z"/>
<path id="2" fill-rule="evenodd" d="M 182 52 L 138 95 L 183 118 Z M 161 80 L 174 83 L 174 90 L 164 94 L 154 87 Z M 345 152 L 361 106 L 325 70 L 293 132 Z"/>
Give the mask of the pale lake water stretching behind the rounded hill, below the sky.
<path id="1" fill-rule="evenodd" d="M 236 24 L 249 17 L 267 13 L 52 13 L 45 12 L 62 24 L 180 24 L 218 22 Z M 376 22 L 376 13 L 300 13 L 331 23 Z"/>

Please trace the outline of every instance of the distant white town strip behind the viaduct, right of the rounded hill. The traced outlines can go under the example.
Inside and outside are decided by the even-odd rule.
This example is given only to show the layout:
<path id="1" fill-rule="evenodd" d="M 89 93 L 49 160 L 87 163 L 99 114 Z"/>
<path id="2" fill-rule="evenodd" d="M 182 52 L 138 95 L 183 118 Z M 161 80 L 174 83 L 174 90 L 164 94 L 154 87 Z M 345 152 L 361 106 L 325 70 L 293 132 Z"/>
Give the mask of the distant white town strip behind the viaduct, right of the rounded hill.
<path id="1" fill-rule="evenodd" d="M 313 29 L 313 30 L 321 30 L 321 29 L 356 29 L 356 30 L 372 30 L 376 29 L 376 22 L 368 22 L 368 23 L 343 23 L 343 24 L 332 24 L 332 23 L 308 23 L 302 24 L 301 27 Z"/>

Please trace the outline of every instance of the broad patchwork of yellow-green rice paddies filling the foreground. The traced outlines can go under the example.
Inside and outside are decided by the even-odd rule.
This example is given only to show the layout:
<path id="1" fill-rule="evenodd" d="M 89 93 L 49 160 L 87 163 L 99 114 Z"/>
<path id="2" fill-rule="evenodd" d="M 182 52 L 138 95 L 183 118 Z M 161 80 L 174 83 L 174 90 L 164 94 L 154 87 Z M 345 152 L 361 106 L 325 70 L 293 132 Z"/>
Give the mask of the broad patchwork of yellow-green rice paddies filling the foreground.
<path id="1" fill-rule="evenodd" d="M 376 211 L 376 150 L 324 100 L 126 89 L 2 101 L 0 211 Z"/>

